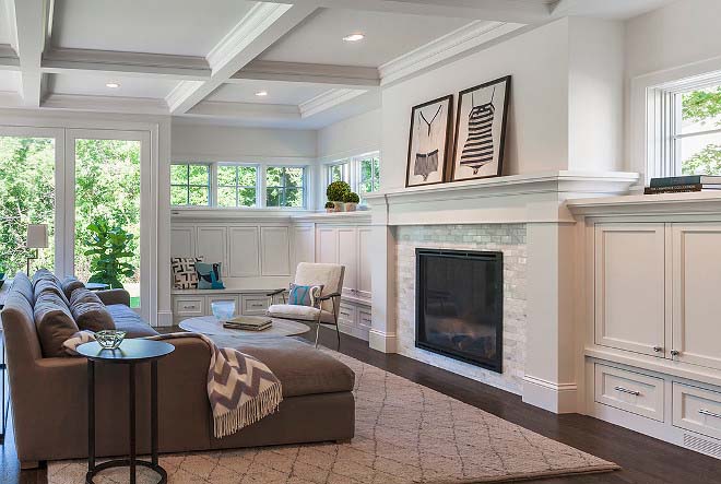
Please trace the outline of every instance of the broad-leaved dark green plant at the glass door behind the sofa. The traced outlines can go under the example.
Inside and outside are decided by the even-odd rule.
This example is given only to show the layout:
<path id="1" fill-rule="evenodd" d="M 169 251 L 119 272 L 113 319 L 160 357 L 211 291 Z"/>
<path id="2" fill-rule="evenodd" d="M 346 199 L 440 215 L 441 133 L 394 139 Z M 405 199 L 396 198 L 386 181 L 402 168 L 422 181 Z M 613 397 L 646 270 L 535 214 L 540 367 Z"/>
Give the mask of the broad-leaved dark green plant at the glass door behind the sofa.
<path id="1" fill-rule="evenodd" d="M 90 247 L 83 252 L 88 256 L 92 275 L 88 282 L 108 284 L 111 288 L 122 288 L 120 282 L 123 278 L 132 278 L 134 268 L 121 259 L 133 257 L 130 246 L 133 235 L 126 232 L 119 225 L 113 226 L 105 219 L 97 219 L 87 226 L 93 234 L 86 241 Z"/>

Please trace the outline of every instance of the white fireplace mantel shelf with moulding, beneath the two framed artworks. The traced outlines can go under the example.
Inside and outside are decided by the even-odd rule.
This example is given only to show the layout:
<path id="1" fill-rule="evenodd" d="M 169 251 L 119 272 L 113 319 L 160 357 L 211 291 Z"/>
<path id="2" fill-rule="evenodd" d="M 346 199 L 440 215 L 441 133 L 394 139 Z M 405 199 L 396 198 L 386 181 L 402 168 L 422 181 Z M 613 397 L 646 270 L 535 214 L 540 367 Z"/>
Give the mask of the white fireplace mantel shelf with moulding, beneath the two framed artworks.
<path id="1" fill-rule="evenodd" d="M 620 196 L 635 173 L 553 172 L 368 193 L 374 225 L 574 222 L 568 199 Z"/>

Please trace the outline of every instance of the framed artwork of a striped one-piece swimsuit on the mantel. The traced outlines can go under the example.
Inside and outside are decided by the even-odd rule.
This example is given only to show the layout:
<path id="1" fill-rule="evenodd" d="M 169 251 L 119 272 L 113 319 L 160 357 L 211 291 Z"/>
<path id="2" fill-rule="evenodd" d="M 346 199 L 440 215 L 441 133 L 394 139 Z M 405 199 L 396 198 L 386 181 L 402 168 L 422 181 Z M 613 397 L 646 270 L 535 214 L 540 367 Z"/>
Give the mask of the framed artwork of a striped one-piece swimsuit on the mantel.
<path id="1" fill-rule="evenodd" d="M 458 94 L 451 181 L 501 175 L 509 97 L 510 75 Z"/>

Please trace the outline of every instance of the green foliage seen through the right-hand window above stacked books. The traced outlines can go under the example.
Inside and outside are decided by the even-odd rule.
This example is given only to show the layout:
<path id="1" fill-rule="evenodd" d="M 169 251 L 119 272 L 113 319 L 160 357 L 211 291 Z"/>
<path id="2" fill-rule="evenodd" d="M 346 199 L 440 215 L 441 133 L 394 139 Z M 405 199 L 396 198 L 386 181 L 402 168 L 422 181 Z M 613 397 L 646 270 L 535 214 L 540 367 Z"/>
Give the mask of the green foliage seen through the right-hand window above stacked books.
<path id="1" fill-rule="evenodd" d="M 684 121 L 711 123 L 708 129 L 721 127 L 721 86 L 716 90 L 700 90 L 686 93 L 682 97 Z M 721 144 L 711 143 L 682 165 L 684 175 L 721 174 Z"/>

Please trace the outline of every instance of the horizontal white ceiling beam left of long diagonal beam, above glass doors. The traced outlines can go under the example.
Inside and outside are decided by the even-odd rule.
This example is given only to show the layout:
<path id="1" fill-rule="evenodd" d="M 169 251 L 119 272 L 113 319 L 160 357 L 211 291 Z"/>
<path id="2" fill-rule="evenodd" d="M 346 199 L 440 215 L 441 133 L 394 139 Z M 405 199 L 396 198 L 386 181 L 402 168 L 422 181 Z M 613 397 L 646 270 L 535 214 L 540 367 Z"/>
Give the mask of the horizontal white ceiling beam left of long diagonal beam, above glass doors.
<path id="1" fill-rule="evenodd" d="M 54 74 L 84 71 L 178 81 L 211 78 L 210 66 L 203 57 L 91 49 L 50 49 L 43 56 L 42 71 Z"/>

